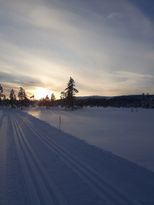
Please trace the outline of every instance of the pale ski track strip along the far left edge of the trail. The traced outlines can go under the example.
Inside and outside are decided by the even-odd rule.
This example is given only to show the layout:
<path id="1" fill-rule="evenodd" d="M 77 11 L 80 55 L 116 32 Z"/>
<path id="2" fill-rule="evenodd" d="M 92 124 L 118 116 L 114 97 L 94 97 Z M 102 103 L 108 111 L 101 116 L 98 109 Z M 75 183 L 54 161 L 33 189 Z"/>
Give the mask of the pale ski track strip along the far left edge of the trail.
<path id="1" fill-rule="evenodd" d="M 9 116 L 3 112 L 0 119 L 0 204 L 14 204 L 14 200 L 17 205 L 29 204 L 20 171 Z"/>

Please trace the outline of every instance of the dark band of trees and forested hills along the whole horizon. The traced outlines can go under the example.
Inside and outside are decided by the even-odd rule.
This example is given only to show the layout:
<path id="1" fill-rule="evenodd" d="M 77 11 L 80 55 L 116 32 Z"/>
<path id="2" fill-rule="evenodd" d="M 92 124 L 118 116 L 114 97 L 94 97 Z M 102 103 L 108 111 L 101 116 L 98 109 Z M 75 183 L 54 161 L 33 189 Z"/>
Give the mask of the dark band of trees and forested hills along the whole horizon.
<path id="1" fill-rule="evenodd" d="M 3 91 L 3 87 L 0 84 L 0 105 L 20 107 L 23 106 L 46 106 L 46 108 L 61 106 L 65 109 L 74 110 L 84 106 L 101 106 L 101 107 L 143 107 L 154 108 L 154 95 L 141 94 L 141 95 L 126 95 L 115 97 L 99 97 L 99 96 L 87 96 L 76 97 L 78 90 L 75 86 L 75 81 L 70 77 L 66 88 L 61 92 L 60 99 L 56 99 L 54 93 L 49 97 L 48 95 L 40 100 L 36 100 L 35 96 L 27 97 L 24 88 L 20 87 L 17 95 L 14 89 L 10 90 L 9 98 Z"/>

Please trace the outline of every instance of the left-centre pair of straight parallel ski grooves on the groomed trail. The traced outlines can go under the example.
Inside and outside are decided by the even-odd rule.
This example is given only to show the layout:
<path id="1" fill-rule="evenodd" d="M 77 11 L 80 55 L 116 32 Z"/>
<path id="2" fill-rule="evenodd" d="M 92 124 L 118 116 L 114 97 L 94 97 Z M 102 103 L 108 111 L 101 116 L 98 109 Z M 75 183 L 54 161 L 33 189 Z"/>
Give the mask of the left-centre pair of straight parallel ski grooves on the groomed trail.
<path id="1" fill-rule="evenodd" d="M 68 205 L 60 190 L 51 182 L 48 174 L 40 164 L 31 145 L 27 141 L 22 128 L 18 125 L 17 119 L 11 120 L 14 130 L 15 141 L 19 153 L 20 163 L 23 167 L 27 188 L 31 192 L 32 204 L 37 205 Z M 21 156 L 22 154 L 22 156 Z M 35 198 L 35 199 L 34 199 Z"/>

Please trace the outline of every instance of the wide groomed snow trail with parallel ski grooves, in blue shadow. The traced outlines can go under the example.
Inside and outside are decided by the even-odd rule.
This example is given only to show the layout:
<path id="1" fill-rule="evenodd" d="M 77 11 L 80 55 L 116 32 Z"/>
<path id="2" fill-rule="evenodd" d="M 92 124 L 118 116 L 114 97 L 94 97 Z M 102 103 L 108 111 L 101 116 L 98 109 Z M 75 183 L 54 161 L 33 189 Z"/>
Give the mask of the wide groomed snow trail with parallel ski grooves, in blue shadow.
<path id="1" fill-rule="evenodd" d="M 1 110 L 0 204 L 151 205 L 154 173 L 26 113 Z"/>

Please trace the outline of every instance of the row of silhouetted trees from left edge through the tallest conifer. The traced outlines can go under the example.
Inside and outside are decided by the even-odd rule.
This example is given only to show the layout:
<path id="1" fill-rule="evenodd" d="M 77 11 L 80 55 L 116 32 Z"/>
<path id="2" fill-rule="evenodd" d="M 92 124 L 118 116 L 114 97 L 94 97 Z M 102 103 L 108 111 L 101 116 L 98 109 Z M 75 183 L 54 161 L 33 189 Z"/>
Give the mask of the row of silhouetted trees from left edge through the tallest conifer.
<path id="1" fill-rule="evenodd" d="M 32 95 L 28 98 L 26 91 L 23 87 L 19 88 L 19 91 L 16 95 L 15 90 L 11 89 L 9 93 L 9 98 L 6 98 L 3 87 L 0 84 L 0 105 L 11 106 L 12 108 L 23 106 L 62 106 L 66 109 L 74 110 L 75 108 L 75 94 L 78 93 L 78 90 L 75 87 L 75 81 L 70 77 L 67 87 L 61 92 L 60 100 L 56 100 L 54 93 L 51 94 L 51 97 L 47 95 L 45 98 L 36 100 L 35 96 Z"/>

